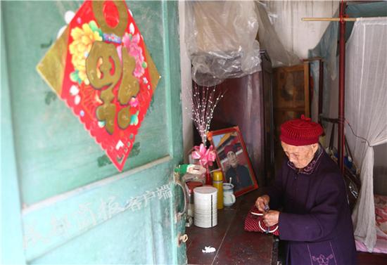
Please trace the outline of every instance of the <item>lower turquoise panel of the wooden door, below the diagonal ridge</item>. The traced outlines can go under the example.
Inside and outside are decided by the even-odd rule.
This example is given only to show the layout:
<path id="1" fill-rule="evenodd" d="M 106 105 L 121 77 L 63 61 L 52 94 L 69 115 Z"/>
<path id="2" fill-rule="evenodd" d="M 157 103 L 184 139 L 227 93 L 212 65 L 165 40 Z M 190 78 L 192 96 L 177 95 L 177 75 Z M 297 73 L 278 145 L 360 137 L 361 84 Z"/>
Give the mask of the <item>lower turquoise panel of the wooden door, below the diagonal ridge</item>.
<path id="1" fill-rule="evenodd" d="M 173 224 L 171 180 L 164 179 L 172 175 L 170 162 L 170 157 L 165 157 L 142 170 L 135 169 L 137 173 L 125 172 L 24 209 L 27 260 L 39 263 L 39 257 L 49 252 L 42 260 L 60 257 L 61 263 L 84 264 L 89 254 L 98 250 L 88 263 L 132 264 L 136 259 L 126 258 L 136 252 L 172 245 L 153 245 L 153 237 L 167 236 L 160 231 L 170 233 Z M 172 257 L 172 253 L 163 252 L 168 254 Z M 150 262 L 152 255 L 137 256 L 139 264 L 166 263 L 171 258 Z"/>

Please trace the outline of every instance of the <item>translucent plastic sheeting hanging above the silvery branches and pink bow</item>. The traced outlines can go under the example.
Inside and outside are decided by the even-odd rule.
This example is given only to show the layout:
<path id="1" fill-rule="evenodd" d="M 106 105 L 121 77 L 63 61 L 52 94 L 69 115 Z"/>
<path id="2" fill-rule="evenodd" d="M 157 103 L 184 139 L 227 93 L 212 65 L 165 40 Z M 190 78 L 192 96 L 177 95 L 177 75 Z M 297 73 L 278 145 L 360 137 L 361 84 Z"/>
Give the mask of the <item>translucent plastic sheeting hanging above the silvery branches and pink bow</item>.
<path id="1" fill-rule="evenodd" d="M 185 32 L 196 84 L 215 86 L 260 70 L 253 1 L 186 1 Z"/>

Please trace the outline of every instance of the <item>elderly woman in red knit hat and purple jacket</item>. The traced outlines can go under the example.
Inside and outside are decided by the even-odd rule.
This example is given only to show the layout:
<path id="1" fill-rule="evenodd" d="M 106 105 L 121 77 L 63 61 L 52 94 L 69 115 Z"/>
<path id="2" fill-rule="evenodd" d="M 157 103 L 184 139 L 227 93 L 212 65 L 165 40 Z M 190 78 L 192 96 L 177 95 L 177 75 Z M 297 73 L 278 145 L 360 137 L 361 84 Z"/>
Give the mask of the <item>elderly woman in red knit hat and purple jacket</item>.
<path id="1" fill-rule="evenodd" d="M 345 183 L 319 146 L 321 134 L 322 127 L 303 115 L 281 125 L 288 159 L 274 186 L 255 202 L 267 226 L 279 225 L 286 264 L 357 263 Z M 281 212 L 272 210 L 279 207 Z"/>

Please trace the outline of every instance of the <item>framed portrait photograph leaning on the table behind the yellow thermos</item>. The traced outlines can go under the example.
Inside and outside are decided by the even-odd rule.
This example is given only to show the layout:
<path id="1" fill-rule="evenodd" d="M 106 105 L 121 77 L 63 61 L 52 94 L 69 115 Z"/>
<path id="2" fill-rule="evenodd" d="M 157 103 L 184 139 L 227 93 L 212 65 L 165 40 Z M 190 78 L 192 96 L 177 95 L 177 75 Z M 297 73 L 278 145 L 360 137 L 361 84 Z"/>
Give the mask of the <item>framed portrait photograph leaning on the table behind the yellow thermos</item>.
<path id="1" fill-rule="evenodd" d="M 223 181 L 234 184 L 234 195 L 258 188 L 239 127 L 210 131 L 209 134 L 216 150 L 217 164 L 223 172 Z"/>

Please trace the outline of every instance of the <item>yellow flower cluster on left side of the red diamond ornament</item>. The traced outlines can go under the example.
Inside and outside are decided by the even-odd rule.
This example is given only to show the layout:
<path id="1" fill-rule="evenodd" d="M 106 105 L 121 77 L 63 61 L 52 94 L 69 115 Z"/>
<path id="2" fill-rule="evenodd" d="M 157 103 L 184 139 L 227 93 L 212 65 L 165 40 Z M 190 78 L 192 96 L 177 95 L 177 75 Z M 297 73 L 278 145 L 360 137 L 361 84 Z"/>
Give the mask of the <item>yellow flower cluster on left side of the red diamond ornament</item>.
<path id="1" fill-rule="evenodd" d="M 84 84 L 90 84 L 86 75 L 86 58 L 89 56 L 91 46 L 94 41 L 102 41 L 101 30 L 96 27 L 96 22 L 91 21 L 89 24 L 75 27 L 71 30 L 71 37 L 73 39 L 69 46 L 70 54 L 72 56 L 71 63 L 74 69 L 77 70 L 77 77 L 83 81 Z"/>

